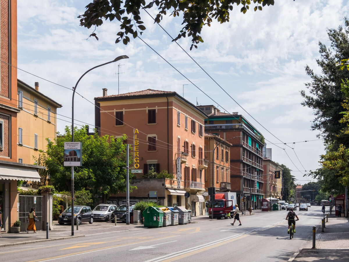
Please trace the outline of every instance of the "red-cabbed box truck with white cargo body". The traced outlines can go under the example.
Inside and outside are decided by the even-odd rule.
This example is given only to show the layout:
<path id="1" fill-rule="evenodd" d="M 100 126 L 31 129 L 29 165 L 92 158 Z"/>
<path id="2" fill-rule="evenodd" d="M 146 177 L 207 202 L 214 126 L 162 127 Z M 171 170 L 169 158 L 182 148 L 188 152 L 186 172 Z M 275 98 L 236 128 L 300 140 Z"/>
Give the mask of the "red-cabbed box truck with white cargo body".
<path id="1" fill-rule="evenodd" d="M 234 192 L 224 192 L 224 193 L 216 193 L 215 200 L 213 201 L 213 218 L 221 219 L 228 218 L 227 214 L 231 215 L 235 211 L 236 204 L 236 193 Z M 209 203 L 208 214 L 211 217 L 211 201 Z"/>

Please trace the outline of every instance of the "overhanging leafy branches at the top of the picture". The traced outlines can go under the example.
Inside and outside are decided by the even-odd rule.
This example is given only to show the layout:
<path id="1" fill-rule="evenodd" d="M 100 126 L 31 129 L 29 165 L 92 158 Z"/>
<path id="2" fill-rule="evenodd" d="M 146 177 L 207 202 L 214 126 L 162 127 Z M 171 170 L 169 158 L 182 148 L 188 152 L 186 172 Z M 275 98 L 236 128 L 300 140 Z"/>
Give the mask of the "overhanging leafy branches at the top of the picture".
<path id="1" fill-rule="evenodd" d="M 192 37 L 192 45 L 197 48 L 196 44 L 203 42 L 201 30 L 203 26 L 211 26 L 213 20 L 219 23 L 229 22 L 230 11 L 233 7 L 239 6 L 240 12 L 245 14 L 250 6 L 251 0 L 155 0 L 146 4 L 145 0 L 94 0 L 86 6 L 84 14 L 79 15 L 80 26 L 91 28 L 101 26 L 105 21 L 117 20 L 121 31 L 117 33 L 116 43 L 122 41 L 125 45 L 130 42 L 130 37 L 136 38 L 138 34 L 146 30 L 141 17 L 141 9 L 146 12 L 157 9 L 157 15 L 154 17 L 156 23 L 160 23 L 163 16 L 169 13 L 170 16 L 183 16 L 182 25 L 178 36 L 173 40 L 176 41 L 181 37 Z M 266 5 L 274 5 L 274 0 L 253 0 L 254 11 L 262 10 Z M 90 37 L 98 37 L 93 32 Z"/>

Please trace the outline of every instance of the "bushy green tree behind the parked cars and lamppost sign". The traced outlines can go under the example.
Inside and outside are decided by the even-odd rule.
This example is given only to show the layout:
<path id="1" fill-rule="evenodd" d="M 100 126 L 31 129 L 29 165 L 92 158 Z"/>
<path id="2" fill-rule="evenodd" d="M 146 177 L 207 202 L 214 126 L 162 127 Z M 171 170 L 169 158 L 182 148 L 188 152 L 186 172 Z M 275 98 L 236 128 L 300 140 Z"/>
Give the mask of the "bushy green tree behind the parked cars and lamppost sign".
<path id="1" fill-rule="evenodd" d="M 47 145 L 45 166 L 58 191 L 70 191 L 71 168 L 63 166 L 64 142 L 71 141 L 70 131 L 66 126 L 65 133 L 58 133 L 55 143 Z M 74 128 L 74 140 L 82 142 L 82 166 L 74 167 L 75 190 L 89 189 L 93 195 L 101 195 L 103 202 L 110 194 L 126 191 L 125 139 L 126 136 L 117 139 L 108 135 L 100 137 L 97 133 L 89 136 L 85 127 Z M 130 187 L 130 190 L 134 188 Z"/>

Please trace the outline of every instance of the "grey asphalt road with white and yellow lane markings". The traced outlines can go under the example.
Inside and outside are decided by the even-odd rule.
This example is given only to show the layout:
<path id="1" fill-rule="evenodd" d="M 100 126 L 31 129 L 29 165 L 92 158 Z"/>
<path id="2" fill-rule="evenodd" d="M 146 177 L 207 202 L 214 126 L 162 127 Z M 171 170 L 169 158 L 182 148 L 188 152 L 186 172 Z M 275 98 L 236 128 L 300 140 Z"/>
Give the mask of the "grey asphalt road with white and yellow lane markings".
<path id="1" fill-rule="evenodd" d="M 258 212 L 231 219 L 203 220 L 163 228 L 101 232 L 83 238 L 1 249 L 1 261 L 287 261 L 299 248 L 311 247 L 319 206 L 296 211 L 295 238 L 287 234 L 287 211 Z"/>

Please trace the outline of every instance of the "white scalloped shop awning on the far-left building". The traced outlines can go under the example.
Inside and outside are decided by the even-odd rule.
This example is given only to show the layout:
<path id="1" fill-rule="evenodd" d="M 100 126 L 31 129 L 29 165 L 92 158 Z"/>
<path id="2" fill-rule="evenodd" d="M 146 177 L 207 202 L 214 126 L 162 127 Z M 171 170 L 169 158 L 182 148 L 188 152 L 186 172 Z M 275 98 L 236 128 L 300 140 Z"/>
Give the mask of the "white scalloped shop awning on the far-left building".
<path id="1" fill-rule="evenodd" d="M 0 165 L 0 179 L 40 182 L 40 176 L 36 168 L 16 165 Z"/>

